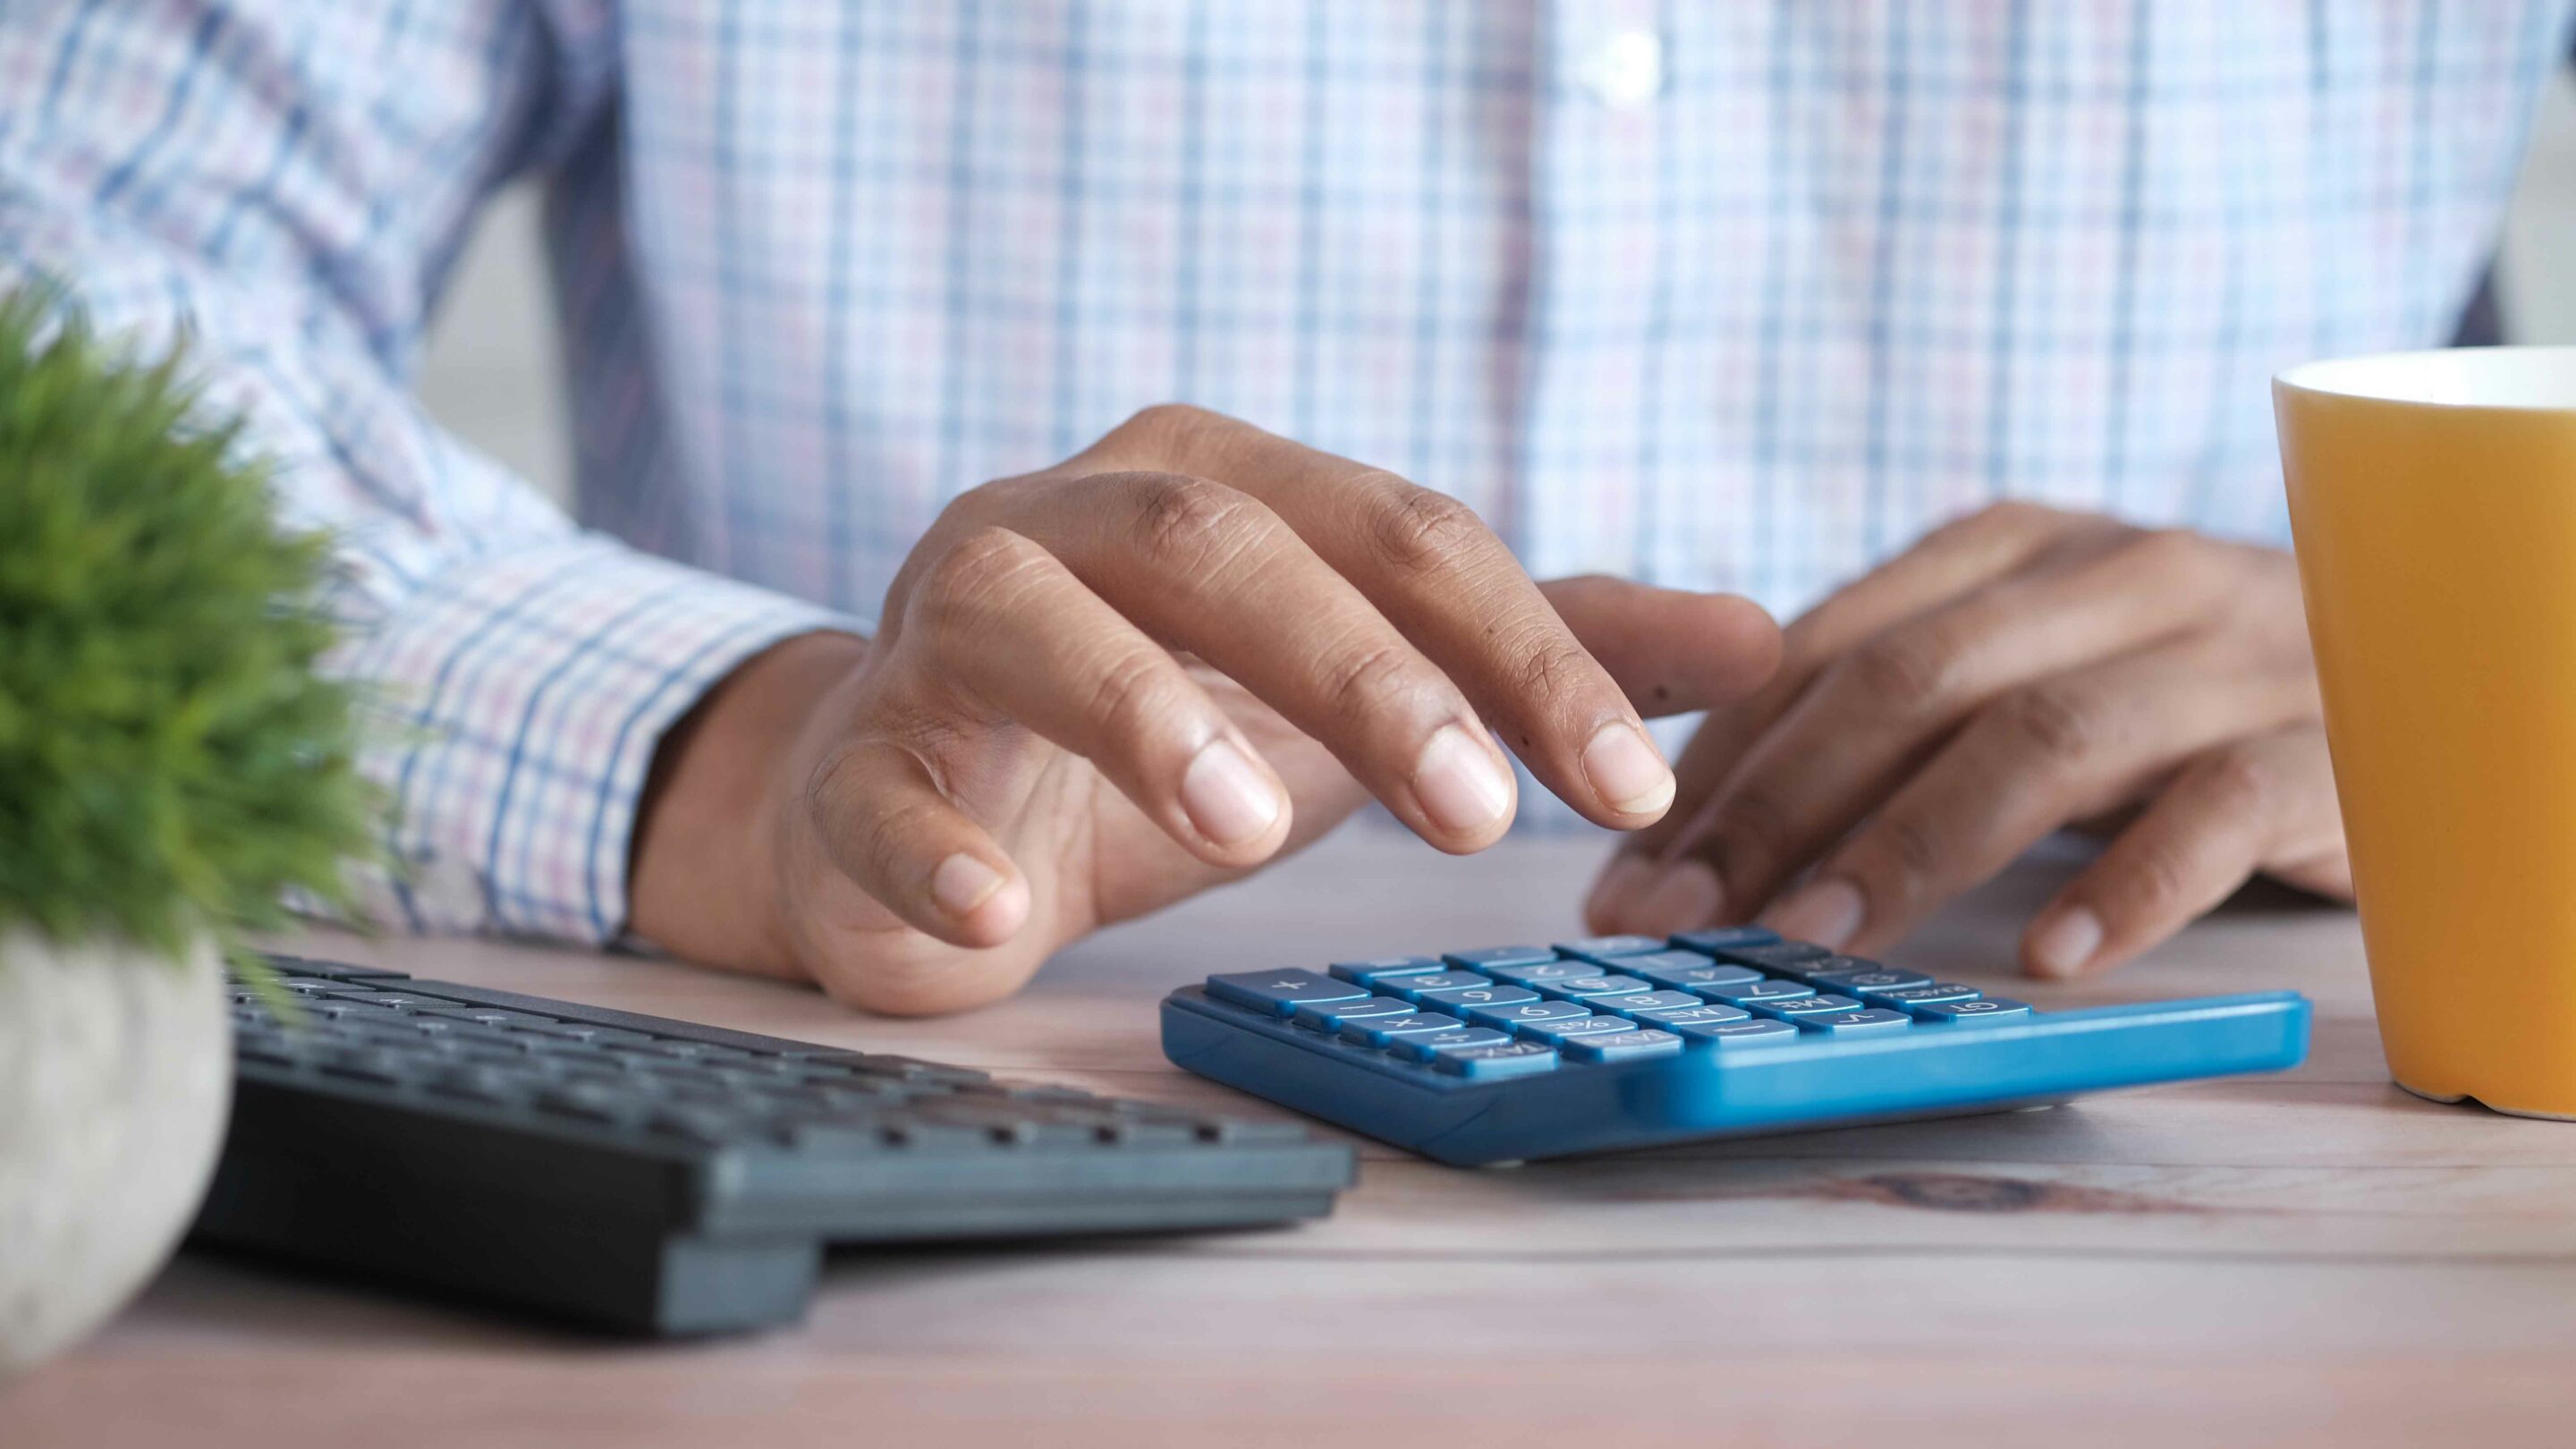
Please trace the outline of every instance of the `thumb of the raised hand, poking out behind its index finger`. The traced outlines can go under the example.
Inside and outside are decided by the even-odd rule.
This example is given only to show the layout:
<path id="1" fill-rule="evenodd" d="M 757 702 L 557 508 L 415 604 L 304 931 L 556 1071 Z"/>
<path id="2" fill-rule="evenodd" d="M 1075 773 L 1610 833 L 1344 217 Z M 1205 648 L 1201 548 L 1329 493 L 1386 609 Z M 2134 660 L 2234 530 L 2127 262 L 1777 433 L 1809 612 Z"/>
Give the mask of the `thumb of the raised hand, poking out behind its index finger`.
<path id="1" fill-rule="evenodd" d="M 1538 590 L 1649 719 L 1744 699 L 1780 668 L 1780 627 L 1749 598 L 1597 572 Z"/>

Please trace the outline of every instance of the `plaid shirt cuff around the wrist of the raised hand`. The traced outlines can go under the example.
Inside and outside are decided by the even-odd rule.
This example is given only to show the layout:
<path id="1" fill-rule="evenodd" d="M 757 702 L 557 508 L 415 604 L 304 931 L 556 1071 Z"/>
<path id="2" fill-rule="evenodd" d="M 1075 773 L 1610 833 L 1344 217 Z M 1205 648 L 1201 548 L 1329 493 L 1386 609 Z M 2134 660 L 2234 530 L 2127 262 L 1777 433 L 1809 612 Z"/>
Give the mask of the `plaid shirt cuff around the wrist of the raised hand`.
<path id="1" fill-rule="evenodd" d="M 613 941 L 662 732 L 824 629 L 868 632 L 600 534 L 440 570 L 332 660 L 379 706 L 363 763 L 392 799 L 392 871 L 363 905 L 412 931 Z"/>

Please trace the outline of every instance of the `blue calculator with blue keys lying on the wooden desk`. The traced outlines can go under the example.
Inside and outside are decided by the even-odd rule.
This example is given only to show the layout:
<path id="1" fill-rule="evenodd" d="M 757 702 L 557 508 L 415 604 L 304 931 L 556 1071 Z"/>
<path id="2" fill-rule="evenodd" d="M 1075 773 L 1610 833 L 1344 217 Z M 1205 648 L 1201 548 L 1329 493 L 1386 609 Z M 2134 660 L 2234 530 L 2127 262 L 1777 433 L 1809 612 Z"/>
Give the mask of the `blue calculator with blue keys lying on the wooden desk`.
<path id="1" fill-rule="evenodd" d="M 1162 1049 L 1476 1165 L 2277 1073 L 2308 1055 L 2308 1000 L 2032 1011 L 1744 926 L 1221 972 L 1162 1003 Z"/>

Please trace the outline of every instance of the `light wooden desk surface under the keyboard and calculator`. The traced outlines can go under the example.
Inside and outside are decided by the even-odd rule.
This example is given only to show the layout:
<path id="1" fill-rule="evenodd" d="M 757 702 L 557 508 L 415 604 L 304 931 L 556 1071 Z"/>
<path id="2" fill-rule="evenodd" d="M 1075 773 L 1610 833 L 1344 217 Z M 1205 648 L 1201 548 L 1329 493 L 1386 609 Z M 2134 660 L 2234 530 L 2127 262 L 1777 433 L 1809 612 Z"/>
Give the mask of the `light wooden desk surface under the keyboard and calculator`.
<path id="1" fill-rule="evenodd" d="M 920 1024 L 654 962 L 317 949 L 1242 1109 L 1157 1055 L 1170 985 L 1561 936 L 1592 861 L 1342 835 Z M 2002 980 L 2053 879 L 2025 864 L 1899 957 Z M 0 1444 L 2576 1441 L 2576 1127 L 2391 1088 L 2347 913 L 2233 908 L 2107 982 L 2012 993 L 2277 985 L 2318 1003 L 2287 1078 L 1517 1171 L 1363 1147 L 1327 1222 L 853 1253 L 804 1328 L 750 1341 L 600 1343 L 183 1256 L 0 1390 Z"/>

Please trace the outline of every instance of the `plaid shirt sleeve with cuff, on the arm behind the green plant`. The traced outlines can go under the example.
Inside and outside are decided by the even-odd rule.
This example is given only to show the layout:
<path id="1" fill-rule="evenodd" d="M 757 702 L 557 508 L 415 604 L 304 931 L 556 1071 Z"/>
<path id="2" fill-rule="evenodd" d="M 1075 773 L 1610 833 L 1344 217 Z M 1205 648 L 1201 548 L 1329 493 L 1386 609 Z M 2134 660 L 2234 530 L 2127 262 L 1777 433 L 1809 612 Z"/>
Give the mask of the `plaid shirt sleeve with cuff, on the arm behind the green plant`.
<path id="1" fill-rule="evenodd" d="M 185 343 L 289 523 L 337 544 L 330 668 L 381 704 L 366 768 L 412 928 L 626 923 L 662 732 L 768 645 L 858 629 L 577 529 L 410 394 L 484 196 L 600 121 L 611 0 L 10 0 L 0 291 L 144 356 Z"/>

